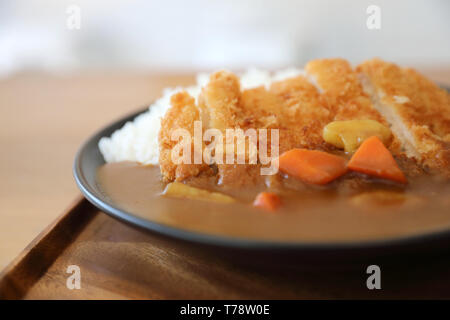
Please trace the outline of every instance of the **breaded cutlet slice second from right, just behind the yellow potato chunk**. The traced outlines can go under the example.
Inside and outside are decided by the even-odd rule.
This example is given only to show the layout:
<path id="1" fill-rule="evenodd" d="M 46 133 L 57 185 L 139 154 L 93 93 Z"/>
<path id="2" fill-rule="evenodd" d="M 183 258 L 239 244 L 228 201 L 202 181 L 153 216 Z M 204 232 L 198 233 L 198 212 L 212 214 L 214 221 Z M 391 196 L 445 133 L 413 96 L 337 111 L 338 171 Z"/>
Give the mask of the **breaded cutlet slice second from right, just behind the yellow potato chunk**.
<path id="1" fill-rule="evenodd" d="M 358 73 L 348 61 L 339 58 L 312 60 L 305 70 L 333 113 L 332 120 L 370 119 L 389 127 L 389 123 L 364 92 Z M 394 154 L 401 154 L 400 142 L 395 135 L 388 147 Z"/>

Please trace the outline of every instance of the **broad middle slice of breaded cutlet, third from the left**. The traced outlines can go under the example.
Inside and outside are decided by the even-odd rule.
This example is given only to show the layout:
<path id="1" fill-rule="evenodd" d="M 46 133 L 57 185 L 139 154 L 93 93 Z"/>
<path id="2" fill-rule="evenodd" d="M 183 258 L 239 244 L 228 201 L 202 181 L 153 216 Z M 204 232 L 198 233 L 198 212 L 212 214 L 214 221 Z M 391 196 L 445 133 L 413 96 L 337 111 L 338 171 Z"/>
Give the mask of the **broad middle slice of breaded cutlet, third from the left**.
<path id="1" fill-rule="evenodd" d="M 279 153 L 325 145 L 322 130 L 330 121 L 331 113 L 315 86 L 303 76 L 274 82 L 268 90 L 264 87 L 244 90 L 241 108 L 242 127 L 279 130 Z"/>

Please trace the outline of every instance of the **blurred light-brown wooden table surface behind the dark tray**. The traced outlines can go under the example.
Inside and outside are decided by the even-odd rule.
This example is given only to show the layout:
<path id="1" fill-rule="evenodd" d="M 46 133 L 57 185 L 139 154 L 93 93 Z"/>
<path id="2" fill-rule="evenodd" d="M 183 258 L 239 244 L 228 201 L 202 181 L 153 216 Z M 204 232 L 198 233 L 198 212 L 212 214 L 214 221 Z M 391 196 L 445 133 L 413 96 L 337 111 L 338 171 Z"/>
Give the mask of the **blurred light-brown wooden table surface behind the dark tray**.
<path id="1" fill-rule="evenodd" d="M 449 68 L 423 70 L 450 86 Z M 79 195 L 72 162 L 107 123 L 190 75 L 20 74 L 0 79 L 0 269 Z"/>

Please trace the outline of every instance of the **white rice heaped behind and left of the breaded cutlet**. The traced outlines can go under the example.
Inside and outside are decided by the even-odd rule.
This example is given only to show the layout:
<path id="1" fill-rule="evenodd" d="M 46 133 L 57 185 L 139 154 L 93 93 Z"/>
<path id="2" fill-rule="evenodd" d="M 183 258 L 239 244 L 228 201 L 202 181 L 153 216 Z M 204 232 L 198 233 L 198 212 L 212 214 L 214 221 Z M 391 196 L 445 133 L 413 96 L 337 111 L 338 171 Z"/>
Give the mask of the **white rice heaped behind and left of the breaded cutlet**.
<path id="1" fill-rule="evenodd" d="M 241 88 L 250 89 L 259 86 L 268 88 L 272 82 L 281 81 L 303 74 L 303 70 L 290 68 L 275 73 L 265 70 L 249 69 L 241 75 Z M 127 122 L 116 130 L 111 137 L 100 139 L 98 147 L 106 162 L 135 161 L 142 164 L 158 164 L 158 132 L 160 121 L 170 108 L 170 97 L 181 90 L 198 98 L 201 88 L 209 80 L 209 75 L 199 74 L 197 84 L 187 88 L 167 88 L 160 99 L 150 105 L 149 110 Z"/>

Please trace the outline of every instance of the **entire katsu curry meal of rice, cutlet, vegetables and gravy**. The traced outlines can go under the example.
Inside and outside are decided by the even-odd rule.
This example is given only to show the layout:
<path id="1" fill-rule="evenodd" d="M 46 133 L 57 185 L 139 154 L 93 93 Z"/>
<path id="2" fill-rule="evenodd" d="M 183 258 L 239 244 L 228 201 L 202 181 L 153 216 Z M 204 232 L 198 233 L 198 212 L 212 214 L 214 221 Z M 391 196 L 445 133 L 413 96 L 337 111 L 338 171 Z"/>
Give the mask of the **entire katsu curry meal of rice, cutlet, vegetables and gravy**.
<path id="1" fill-rule="evenodd" d="M 142 135 L 127 124 L 102 139 L 105 194 L 150 221 L 238 238 L 355 242 L 450 228 L 447 91 L 379 59 L 318 59 L 275 78 L 246 87 L 215 72 L 161 102 L 158 136 L 147 129 L 159 118 L 140 118 Z M 111 163 L 122 160 L 155 166 Z"/>

